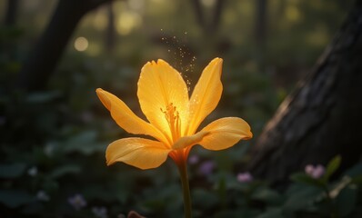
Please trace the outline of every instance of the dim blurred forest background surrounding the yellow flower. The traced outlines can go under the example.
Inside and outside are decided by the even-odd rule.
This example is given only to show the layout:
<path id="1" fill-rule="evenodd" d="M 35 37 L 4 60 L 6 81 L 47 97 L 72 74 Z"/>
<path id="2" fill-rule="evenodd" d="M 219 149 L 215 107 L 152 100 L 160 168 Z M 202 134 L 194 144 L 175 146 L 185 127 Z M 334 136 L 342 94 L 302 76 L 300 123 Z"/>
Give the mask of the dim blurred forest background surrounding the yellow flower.
<path id="1" fill-rule="evenodd" d="M 343 74 L 356 82 L 342 86 L 360 91 L 358 1 L 2 0 L 0 12 L 0 216 L 122 217 L 135 210 L 146 217 L 181 217 L 181 189 L 171 162 L 147 171 L 123 163 L 106 167 L 107 144 L 127 134 L 95 90 L 105 88 L 140 114 L 136 82 L 143 64 L 166 60 L 192 89 L 216 56 L 224 59 L 224 92 L 210 120 L 242 117 L 254 138 L 217 153 L 193 148 L 195 217 L 361 214 L 362 134 L 356 113 L 361 101 L 348 93 L 343 104 L 350 113 L 344 115 L 354 123 L 334 132 L 319 134 L 326 128 L 319 122 L 309 128 L 308 122 L 317 118 L 300 114 L 305 120 L 287 125 L 289 132 L 276 127 L 283 120 L 276 118 L 279 105 L 298 111 L 286 101 L 298 99 L 306 84 L 343 81 L 341 66 L 351 66 Z M 333 49 L 337 45 L 347 49 Z M 314 79 L 326 71 L 338 76 Z M 311 98 L 319 99 L 318 90 Z M 339 96 L 347 88 L 333 90 L 326 92 Z M 328 101 L 319 103 L 310 108 L 324 108 Z M 317 116 L 328 112 L 317 110 Z M 320 123 L 334 126 L 326 122 L 333 117 Z M 304 137 L 303 126 L 317 133 L 308 136 L 307 151 L 293 154 L 303 150 L 292 146 L 293 140 L 265 142 L 270 135 Z M 267 134 L 273 128 L 279 133 Z M 323 140 L 337 132 L 342 143 Z M 320 178 L 301 173 L 309 163 L 322 164 L 327 173 Z M 251 181 L 238 179 L 246 172 Z"/>

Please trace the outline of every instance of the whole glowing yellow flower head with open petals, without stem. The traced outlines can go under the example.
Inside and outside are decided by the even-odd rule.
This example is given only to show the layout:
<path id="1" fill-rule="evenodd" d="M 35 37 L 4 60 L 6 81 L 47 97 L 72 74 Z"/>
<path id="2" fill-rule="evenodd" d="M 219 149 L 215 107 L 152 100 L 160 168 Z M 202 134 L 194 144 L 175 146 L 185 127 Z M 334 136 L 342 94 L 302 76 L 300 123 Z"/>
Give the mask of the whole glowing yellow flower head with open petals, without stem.
<path id="1" fill-rule="evenodd" d="M 163 60 L 145 64 L 139 76 L 137 96 L 148 122 L 114 94 L 96 89 L 116 124 L 130 134 L 146 134 L 156 139 L 116 140 L 106 149 L 106 163 L 124 162 L 150 169 L 164 163 L 168 155 L 176 163 L 185 163 L 195 144 L 209 150 L 222 150 L 241 139 L 250 139 L 250 126 L 237 117 L 218 119 L 197 131 L 220 100 L 222 63 L 221 58 L 215 58 L 206 66 L 190 98 L 182 75 L 172 66 Z"/>

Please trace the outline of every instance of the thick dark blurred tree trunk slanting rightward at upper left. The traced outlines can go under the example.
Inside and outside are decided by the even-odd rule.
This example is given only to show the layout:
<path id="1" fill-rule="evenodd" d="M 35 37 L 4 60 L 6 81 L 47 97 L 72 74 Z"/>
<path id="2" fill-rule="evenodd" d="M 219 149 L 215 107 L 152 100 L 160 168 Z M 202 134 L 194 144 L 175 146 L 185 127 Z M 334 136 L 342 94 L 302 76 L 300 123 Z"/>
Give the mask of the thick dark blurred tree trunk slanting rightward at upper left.
<path id="1" fill-rule="evenodd" d="M 111 1 L 59 0 L 43 35 L 22 66 L 17 86 L 29 91 L 44 89 L 80 19 L 97 6 Z"/>

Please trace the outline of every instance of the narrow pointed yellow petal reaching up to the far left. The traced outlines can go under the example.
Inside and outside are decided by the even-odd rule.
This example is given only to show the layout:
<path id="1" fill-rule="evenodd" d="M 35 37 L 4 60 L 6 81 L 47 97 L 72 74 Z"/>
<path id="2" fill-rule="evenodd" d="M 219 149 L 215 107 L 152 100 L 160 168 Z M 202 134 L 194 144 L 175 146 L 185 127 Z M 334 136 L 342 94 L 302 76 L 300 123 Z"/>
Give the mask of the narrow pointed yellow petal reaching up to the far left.
<path id="1" fill-rule="evenodd" d="M 96 94 L 105 105 L 106 109 L 111 113 L 112 118 L 121 128 L 130 134 L 147 134 L 156 139 L 166 142 L 166 138 L 152 124 L 139 118 L 131 109 L 114 94 L 110 94 L 105 90 L 98 88 Z"/>

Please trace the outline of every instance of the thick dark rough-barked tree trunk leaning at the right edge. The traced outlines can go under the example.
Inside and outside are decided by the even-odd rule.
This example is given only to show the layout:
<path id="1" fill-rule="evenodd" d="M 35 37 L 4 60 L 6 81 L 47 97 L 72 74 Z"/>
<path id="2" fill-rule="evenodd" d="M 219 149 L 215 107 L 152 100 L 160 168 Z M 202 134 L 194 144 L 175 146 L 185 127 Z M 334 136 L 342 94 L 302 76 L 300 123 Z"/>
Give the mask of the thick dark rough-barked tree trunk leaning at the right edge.
<path id="1" fill-rule="evenodd" d="M 284 184 L 307 163 L 342 155 L 341 170 L 362 152 L 362 4 L 356 1 L 334 41 L 280 105 L 252 148 L 249 170 Z"/>

